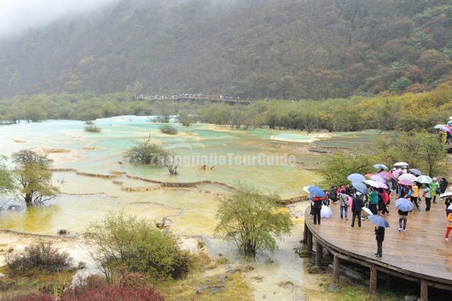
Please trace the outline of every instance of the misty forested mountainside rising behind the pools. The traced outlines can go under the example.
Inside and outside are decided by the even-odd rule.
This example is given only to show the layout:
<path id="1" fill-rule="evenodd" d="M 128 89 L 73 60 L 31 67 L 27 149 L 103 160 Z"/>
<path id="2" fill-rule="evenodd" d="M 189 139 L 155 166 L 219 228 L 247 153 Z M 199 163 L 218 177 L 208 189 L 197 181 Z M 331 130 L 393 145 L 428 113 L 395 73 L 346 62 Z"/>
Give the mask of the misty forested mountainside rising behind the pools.
<path id="1" fill-rule="evenodd" d="M 124 0 L 0 45 L 0 98 L 419 92 L 452 73 L 452 1 Z"/>

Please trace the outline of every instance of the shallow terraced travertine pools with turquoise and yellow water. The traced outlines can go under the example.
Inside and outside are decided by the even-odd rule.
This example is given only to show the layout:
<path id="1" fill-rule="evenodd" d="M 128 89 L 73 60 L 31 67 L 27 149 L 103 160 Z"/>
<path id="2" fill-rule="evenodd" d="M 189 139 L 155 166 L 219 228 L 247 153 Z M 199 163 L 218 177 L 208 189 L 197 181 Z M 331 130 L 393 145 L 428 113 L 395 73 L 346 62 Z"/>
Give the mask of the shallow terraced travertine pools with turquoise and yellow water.
<path id="1" fill-rule="evenodd" d="M 49 153 L 54 160 L 52 168 L 59 170 L 53 172 L 52 182 L 61 190 L 57 198 L 42 206 L 2 211 L 0 229 L 50 235 L 66 229 L 77 233 L 109 211 L 125 211 L 150 220 L 169 218 L 174 234 L 203 237 L 213 254 L 221 252 L 239 260 L 230 244 L 213 236 L 218 197 L 239 182 L 263 191 L 278 191 L 283 199 L 299 196 L 302 187 L 321 180 L 314 170 L 328 156 L 309 148 L 363 147 L 378 135 L 367 131 L 308 136 L 299 131 L 174 124 L 179 134 L 171 136 L 161 134 L 161 124 L 148 122 L 148 117 L 113 117 L 95 123 L 102 128 L 100 134 L 86 133 L 84 123 L 79 121 L 0 126 L 0 154 L 9 156 L 23 148 Z M 143 141 L 156 143 L 191 162 L 180 166 L 177 176 L 169 176 L 165 167 L 127 163 L 124 152 Z M 219 158 L 225 158 L 225 162 Z M 278 163 L 275 158 L 287 160 Z M 200 168 L 204 164 L 206 170 Z M 197 183 L 171 188 L 161 182 Z M 301 212 L 304 206 L 298 204 L 292 211 Z M 301 219 L 294 220 L 292 235 L 278 242 L 275 253 L 262 256 L 254 271 L 272 277 L 273 285 L 285 280 L 295 283 L 287 288 L 290 292 L 278 288 L 283 299 L 299 295 L 303 285 L 315 281 L 304 273 L 302 259 L 293 252 L 303 225 Z M 277 288 L 271 283 L 255 283 L 260 296 Z"/>

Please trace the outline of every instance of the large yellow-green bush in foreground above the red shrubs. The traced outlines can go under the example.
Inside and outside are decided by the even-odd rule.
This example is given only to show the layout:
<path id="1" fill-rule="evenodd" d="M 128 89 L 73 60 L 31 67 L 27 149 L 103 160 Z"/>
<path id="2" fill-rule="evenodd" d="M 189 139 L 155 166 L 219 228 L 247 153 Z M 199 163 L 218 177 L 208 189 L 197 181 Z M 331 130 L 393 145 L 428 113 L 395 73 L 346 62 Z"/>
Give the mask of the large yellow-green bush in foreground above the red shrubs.
<path id="1" fill-rule="evenodd" d="M 92 257 L 107 281 L 124 271 L 155 280 L 177 279 L 193 265 L 191 254 L 179 249 L 174 237 L 136 216 L 109 213 L 92 223 L 84 237 L 93 246 Z"/>

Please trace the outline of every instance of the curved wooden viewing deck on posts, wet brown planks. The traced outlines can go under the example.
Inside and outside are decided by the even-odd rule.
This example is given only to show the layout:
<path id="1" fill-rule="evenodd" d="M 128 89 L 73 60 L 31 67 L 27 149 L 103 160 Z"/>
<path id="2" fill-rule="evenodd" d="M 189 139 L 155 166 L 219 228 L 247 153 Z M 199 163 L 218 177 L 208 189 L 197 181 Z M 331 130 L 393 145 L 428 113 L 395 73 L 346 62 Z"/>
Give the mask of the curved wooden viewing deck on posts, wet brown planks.
<path id="1" fill-rule="evenodd" d="M 308 249 L 312 249 L 313 237 L 316 249 L 328 249 L 334 255 L 333 277 L 338 281 L 339 260 L 352 261 L 371 270 L 371 293 L 376 292 L 376 273 L 406 278 L 421 284 L 421 299 L 427 300 L 428 286 L 452 290 L 452 234 L 451 241 L 444 240 L 446 231 L 446 206 L 441 200 L 432 203 L 431 211 L 424 211 L 425 203 L 420 203 L 421 211 L 413 211 L 408 217 L 407 230 L 398 231 L 398 214 L 391 201 L 386 217 L 390 228 L 386 229 L 383 242 L 383 257 L 376 258 L 374 224 L 362 221 L 362 227 L 351 227 L 349 220 L 340 219 L 339 203 L 331 204 L 333 216 L 314 225 L 309 208 L 305 213 L 305 234 Z M 317 252 L 319 254 L 319 252 Z M 321 258 L 316 256 L 317 264 Z"/>

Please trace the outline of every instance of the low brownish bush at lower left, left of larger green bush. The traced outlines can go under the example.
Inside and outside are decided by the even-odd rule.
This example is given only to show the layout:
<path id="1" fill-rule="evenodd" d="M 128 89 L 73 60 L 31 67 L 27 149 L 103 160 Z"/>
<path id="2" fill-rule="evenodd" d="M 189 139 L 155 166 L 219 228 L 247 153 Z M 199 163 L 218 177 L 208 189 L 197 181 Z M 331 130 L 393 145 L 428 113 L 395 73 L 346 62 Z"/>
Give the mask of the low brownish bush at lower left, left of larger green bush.
<path id="1" fill-rule="evenodd" d="M 5 256 L 8 268 L 15 274 L 32 270 L 57 272 L 73 267 L 73 261 L 66 252 L 59 252 L 51 242 L 38 242 L 25 247 L 21 252 L 9 250 Z"/>

